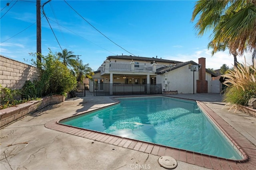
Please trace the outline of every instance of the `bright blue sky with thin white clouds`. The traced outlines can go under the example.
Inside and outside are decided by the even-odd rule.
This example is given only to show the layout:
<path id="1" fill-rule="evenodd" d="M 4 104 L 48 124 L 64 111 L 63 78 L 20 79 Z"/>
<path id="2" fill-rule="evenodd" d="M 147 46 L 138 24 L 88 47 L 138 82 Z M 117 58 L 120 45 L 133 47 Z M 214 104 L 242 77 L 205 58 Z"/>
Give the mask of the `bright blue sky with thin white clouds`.
<path id="1" fill-rule="evenodd" d="M 10 5 L 6 6 L 8 2 Z M 24 59 L 33 58 L 29 53 L 36 52 L 36 1 L 19 0 L 14 4 L 15 2 L 16 0 L 0 1 L 0 54 L 26 63 Z M 45 2 L 46 0 L 41 0 L 41 4 Z M 100 34 L 66 2 L 126 51 Z M 191 22 L 195 1 L 66 2 L 52 0 L 44 6 L 44 12 L 60 46 L 42 14 L 43 55 L 48 54 L 48 48 L 54 53 L 61 52 L 61 48 L 68 49 L 73 51 L 74 55 L 81 55 L 79 58 L 85 64 L 88 63 L 94 71 L 106 57 L 122 54 L 158 56 L 182 62 L 192 60 L 196 63 L 198 58 L 205 57 L 206 68 L 214 69 L 220 68 L 222 64 L 231 68 L 234 63 L 233 56 L 229 55 L 228 51 L 211 56 L 211 51 L 207 50 L 210 33 L 203 37 L 196 36 L 195 22 Z M 35 24 L 32 25 L 33 23 Z M 29 28 L 26 29 L 27 27 Z M 19 33 L 20 31 L 22 32 Z M 16 35 L 17 33 L 19 34 Z M 246 62 L 251 64 L 251 54 L 246 53 L 245 57 Z M 238 62 L 244 62 L 244 56 L 238 57 Z"/>

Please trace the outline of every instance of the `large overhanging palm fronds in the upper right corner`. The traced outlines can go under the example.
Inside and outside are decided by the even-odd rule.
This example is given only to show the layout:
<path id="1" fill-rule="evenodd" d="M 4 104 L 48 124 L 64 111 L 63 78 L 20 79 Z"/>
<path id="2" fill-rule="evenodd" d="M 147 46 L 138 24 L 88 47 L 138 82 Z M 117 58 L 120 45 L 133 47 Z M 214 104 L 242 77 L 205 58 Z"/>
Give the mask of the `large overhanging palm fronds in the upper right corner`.
<path id="1" fill-rule="evenodd" d="M 198 0 L 192 21 L 196 18 L 198 36 L 212 30 L 215 52 L 222 45 L 235 55 L 256 49 L 256 0 Z"/>

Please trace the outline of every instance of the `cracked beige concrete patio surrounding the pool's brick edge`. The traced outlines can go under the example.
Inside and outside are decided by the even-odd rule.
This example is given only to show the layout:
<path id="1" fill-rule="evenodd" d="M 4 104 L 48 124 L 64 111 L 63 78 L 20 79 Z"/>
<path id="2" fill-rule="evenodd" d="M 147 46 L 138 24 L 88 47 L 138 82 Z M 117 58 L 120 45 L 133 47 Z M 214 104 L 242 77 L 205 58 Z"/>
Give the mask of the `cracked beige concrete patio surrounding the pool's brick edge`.
<path id="1" fill-rule="evenodd" d="M 241 169 L 256 169 L 256 118 L 240 111 L 231 110 L 222 103 L 220 94 L 178 94 L 172 97 L 200 100 L 217 113 L 224 121 L 250 141 L 250 161 Z M 111 145 L 68 133 L 48 129 L 45 124 L 60 117 L 76 115 L 113 104 L 110 96 L 94 97 L 88 91 L 83 98 L 73 98 L 63 103 L 48 106 L 28 115 L 0 130 L 1 170 L 14 169 L 164 169 L 158 164 L 159 156 L 140 152 L 118 145 Z M 196 166 L 177 161 L 176 170 L 201 170 L 215 168 L 206 162 Z M 202 161 L 203 162 L 203 161 Z M 231 167 L 227 165 L 228 167 Z M 225 166 L 219 165 L 225 170 Z M 232 166 L 234 167 L 234 166 Z M 237 168 L 237 167 L 236 167 Z M 215 168 L 216 169 L 216 168 Z M 232 169 L 232 168 L 230 168 Z M 239 169 L 239 168 L 237 168 Z"/>

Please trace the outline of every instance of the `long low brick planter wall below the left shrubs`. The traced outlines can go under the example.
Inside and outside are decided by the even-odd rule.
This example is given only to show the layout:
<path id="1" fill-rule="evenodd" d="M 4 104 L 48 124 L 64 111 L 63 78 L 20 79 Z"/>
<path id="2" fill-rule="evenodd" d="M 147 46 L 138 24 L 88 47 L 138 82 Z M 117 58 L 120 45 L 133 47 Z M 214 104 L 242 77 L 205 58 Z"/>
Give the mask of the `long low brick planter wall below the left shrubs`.
<path id="1" fill-rule="evenodd" d="M 11 123 L 25 117 L 28 114 L 42 109 L 50 104 L 64 102 L 65 96 L 54 95 L 42 98 L 41 100 L 32 100 L 23 104 L 0 110 L 0 129 L 10 125 Z"/>

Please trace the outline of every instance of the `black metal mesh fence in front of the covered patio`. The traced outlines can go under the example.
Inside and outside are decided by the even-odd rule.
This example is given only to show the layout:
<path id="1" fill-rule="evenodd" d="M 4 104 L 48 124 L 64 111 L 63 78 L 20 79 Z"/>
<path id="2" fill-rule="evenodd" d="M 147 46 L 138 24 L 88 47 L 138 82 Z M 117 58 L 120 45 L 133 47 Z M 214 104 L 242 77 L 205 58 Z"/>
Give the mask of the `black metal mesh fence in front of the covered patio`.
<path id="1" fill-rule="evenodd" d="M 162 84 L 94 84 L 94 96 L 162 94 Z"/>

